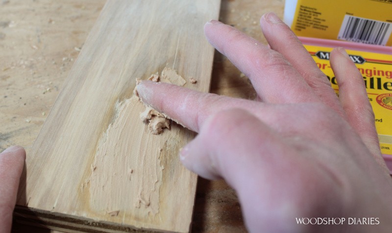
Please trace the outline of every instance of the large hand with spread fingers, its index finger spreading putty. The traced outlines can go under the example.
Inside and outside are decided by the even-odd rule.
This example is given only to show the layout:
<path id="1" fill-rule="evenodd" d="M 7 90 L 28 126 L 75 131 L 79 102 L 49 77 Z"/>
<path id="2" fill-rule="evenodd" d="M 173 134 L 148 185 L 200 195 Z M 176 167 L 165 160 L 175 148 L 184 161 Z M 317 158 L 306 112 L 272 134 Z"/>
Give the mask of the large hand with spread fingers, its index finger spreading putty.
<path id="1" fill-rule="evenodd" d="M 390 232 L 392 182 L 358 69 L 343 48 L 331 52 L 338 98 L 286 24 L 272 13 L 260 23 L 270 48 L 218 21 L 204 31 L 261 101 L 148 81 L 137 85 L 139 97 L 198 132 L 182 163 L 237 191 L 250 232 Z M 300 225 L 301 217 L 380 224 Z"/>

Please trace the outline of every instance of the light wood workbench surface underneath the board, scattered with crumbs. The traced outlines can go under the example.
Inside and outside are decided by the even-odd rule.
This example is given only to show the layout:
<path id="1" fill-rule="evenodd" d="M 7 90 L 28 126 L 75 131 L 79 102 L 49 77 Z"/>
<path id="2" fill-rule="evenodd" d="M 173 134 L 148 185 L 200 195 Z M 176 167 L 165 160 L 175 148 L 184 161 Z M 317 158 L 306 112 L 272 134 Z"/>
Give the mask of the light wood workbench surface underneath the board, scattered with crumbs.
<path id="1" fill-rule="evenodd" d="M 37 137 L 106 0 L 0 0 L 0 151 Z M 220 20 L 266 44 L 260 17 L 284 0 L 222 0 Z M 216 53 L 211 92 L 253 99 L 249 80 Z M 245 232 L 235 191 L 199 178 L 193 233 Z M 14 223 L 13 232 L 55 232 Z"/>

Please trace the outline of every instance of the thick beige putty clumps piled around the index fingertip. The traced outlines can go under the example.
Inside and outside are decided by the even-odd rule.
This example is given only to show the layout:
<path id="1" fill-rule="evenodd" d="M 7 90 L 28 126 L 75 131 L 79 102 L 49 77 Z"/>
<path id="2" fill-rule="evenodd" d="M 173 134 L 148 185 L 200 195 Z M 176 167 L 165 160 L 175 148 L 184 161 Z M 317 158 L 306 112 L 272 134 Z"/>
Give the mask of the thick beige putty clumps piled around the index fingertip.
<path id="1" fill-rule="evenodd" d="M 183 77 L 178 75 L 175 70 L 168 67 L 165 67 L 162 70 L 160 76 L 157 72 L 155 74 L 152 74 L 148 78 L 148 80 L 153 82 L 170 83 L 179 86 L 183 86 L 186 84 L 186 81 Z M 139 85 L 141 81 L 142 81 L 141 79 L 136 79 L 136 86 Z M 138 97 L 139 101 L 141 101 L 136 87 L 133 90 L 133 93 L 135 94 L 135 96 Z M 147 106 L 145 103 L 143 104 L 146 106 L 146 109 L 144 112 L 140 113 L 140 119 L 142 119 L 143 122 L 148 123 L 148 130 L 150 131 L 150 133 L 160 134 L 164 131 L 165 128 L 170 129 L 171 119 L 168 116 L 166 116 L 163 113 L 160 113 L 159 111 L 152 108 L 151 106 Z"/>

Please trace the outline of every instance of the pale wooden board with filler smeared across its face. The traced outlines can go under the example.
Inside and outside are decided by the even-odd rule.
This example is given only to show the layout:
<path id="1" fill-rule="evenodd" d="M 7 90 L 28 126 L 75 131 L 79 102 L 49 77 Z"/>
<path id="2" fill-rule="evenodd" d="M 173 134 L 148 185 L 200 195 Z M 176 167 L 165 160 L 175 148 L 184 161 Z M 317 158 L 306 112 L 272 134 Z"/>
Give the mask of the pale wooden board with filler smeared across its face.
<path id="1" fill-rule="evenodd" d="M 196 175 L 178 150 L 195 134 L 152 135 L 135 79 L 164 67 L 208 91 L 213 48 L 203 24 L 219 0 L 109 0 L 26 159 L 16 214 L 54 229 L 188 232 Z"/>

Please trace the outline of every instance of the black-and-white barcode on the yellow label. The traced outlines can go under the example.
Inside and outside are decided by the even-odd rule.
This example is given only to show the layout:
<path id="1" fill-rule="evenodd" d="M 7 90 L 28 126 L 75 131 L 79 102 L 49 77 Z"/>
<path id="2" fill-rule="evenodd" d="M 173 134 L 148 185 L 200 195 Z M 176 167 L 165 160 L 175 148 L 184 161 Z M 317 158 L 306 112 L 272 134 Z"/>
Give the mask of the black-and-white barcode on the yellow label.
<path id="1" fill-rule="evenodd" d="M 392 23 L 345 15 L 338 39 L 385 45 L 392 32 Z"/>

